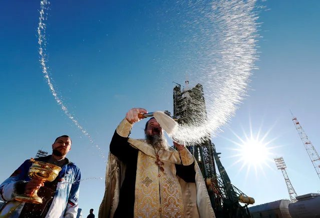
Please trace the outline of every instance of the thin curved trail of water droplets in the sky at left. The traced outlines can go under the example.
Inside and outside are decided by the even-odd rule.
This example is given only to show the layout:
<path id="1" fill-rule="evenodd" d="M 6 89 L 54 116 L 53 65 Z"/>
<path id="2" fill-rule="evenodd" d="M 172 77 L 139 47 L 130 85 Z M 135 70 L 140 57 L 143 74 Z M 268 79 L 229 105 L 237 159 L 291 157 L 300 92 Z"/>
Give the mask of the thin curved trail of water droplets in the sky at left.
<path id="1" fill-rule="evenodd" d="M 69 119 L 72 120 L 72 122 L 81 130 L 81 132 L 89 138 L 91 144 L 93 144 L 99 150 L 101 157 L 106 162 L 103 151 L 100 149 L 100 147 L 97 144 L 95 144 L 95 142 L 93 141 L 91 135 L 87 132 L 87 130 L 84 129 L 83 126 L 81 126 L 79 124 L 78 120 L 68 111 L 67 106 L 64 104 L 64 102 L 58 96 L 56 89 L 55 89 L 53 83 L 51 82 L 52 79 L 49 76 L 48 66 L 46 64 L 46 62 L 47 62 L 47 59 L 46 59 L 47 40 L 46 40 L 45 21 L 47 20 L 47 16 L 48 16 L 47 11 L 49 9 L 49 5 L 50 5 L 50 2 L 47 0 L 43 0 L 40 2 L 40 16 L 39 16 L 39 24 L 38 24 L 37 32 L 38 32 L 39 55 L 40 55 L 40 64 L 42 67 L 42 72 L 44 74 L 44 77 L 47 81 L 47 84 L 50 88 L 50 91 L 51 91 L 52 95 L 54 96 L 57 104 L 60 105 L 62 111 L 68 116 Z"/>

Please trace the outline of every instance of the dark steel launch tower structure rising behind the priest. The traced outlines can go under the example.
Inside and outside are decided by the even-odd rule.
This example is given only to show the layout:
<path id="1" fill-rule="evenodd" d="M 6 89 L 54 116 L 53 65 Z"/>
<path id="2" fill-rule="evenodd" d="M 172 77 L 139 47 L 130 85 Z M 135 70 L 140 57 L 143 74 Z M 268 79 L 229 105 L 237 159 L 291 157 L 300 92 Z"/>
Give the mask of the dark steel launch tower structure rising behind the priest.
<path id="1" fill-rule="evenodd" d="M 186 81 L 186 87 L 188 87 Z M 180 125 L 201 125 L 207 120 L 203 87 L 197 84 L 191 89 L 181 89 L 176 83 L 173 88 L 173 117 Z M 212 208 L 217 218 L 251 217 L 248 204 L 253 204 L 254 199 L 245 195 L 231 184 L 230 178 L 223 167 L 215 145 L 208 135 L 202 143 L 188 146 L 195 156 L 205 179 Z M 215 165 L 215 162 L 217 165 Z M 219 174 L 217 173 L 217 170 Z M 242 206 L 239 202 L 244 203 Z"/>

